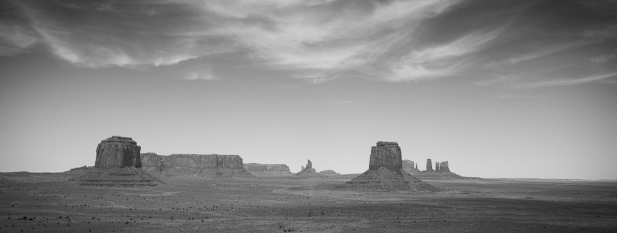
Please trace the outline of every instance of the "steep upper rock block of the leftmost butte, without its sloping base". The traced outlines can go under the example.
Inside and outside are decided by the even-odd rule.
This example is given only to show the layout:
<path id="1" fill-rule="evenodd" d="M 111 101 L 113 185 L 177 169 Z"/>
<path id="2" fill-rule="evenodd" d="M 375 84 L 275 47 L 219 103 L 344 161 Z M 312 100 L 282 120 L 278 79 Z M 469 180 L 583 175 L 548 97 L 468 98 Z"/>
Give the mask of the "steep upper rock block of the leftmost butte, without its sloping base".
<path id="1" fill-rule="evenodd" d="M 123 136 L 111 136 L 97 146 L 97 158 L 95 167 L 109 169 L 113 167 L 141 167 L 139 152 L 141 147 L 133 138 Z"/>

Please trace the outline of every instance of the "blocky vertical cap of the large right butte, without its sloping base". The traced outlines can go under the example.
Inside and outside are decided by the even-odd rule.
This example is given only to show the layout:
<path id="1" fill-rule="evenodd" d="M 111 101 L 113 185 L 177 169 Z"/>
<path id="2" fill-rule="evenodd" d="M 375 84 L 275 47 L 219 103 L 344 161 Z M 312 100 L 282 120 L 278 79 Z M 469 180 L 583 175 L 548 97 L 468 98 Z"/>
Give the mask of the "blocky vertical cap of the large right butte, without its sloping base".
<path id="1" fill-rule="evenodd" d="M 377 170 L 380 167 L 385 167 L 392 171 L 400 171 L 400 169 L 402 169 L 400 154 L 398 143 L 377 142 L 376 146 L 371 147 L 369 170 Z"/>

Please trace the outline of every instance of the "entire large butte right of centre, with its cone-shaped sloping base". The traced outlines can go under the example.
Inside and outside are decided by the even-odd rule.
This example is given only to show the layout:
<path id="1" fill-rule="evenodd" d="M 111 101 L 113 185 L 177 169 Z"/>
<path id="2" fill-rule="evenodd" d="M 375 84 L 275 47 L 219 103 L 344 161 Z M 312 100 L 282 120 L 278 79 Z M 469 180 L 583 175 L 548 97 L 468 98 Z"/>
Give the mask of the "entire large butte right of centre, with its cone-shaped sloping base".
<path id="1" fill-rule="evenodd" d="M 369 169 L 346 183 L 359 191 L 433 191 L 437 188 L 402 170 L 400 147 L 394 142 L 378 142 L 371 148 Z"/>

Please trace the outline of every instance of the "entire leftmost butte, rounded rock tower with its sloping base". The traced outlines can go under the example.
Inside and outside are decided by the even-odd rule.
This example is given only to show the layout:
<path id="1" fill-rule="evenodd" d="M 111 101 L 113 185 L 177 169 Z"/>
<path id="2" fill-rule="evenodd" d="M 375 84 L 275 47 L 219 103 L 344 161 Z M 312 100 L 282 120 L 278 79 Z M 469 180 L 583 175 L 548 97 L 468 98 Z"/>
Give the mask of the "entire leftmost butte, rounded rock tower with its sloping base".
<path id="1" fill-rule="evenodd" d="M 153 186 L 158 179 L 141 169 L 141 147 L 132 138 L 112 136 L 97 146 L 95 166 L 71 178 L 80 185 Z"/>

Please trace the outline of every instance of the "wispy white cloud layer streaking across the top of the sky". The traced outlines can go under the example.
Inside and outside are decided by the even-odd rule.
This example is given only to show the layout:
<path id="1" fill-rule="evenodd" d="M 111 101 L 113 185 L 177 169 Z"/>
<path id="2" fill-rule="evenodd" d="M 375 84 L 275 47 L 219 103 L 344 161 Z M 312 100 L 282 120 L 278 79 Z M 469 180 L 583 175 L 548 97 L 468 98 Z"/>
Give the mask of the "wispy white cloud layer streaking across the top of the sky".
<path id="1" fill-rule="evenodd" d="M 71 64 L 104 68 L 172 66 L 226 53 L 240 65 L 289 71 L 315 84 L 352 75 L 385 82 L 504 73 L 568 77 L 555 66 L 590 61 L 597 69 L 581 75 L 595 77 L 617 72 L 610 65 L 614 49 L 597 52 L 617 39 L 617 16 L 606 4 L 8 0 L 0 9 L 10 12 L 0 16 L 0 56 L 44 45 L 38 49 Z M 186 77 L 208 75 L 192 67 Z"/>

